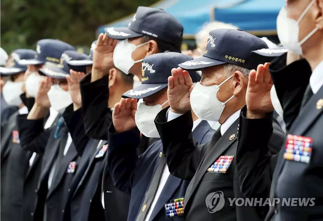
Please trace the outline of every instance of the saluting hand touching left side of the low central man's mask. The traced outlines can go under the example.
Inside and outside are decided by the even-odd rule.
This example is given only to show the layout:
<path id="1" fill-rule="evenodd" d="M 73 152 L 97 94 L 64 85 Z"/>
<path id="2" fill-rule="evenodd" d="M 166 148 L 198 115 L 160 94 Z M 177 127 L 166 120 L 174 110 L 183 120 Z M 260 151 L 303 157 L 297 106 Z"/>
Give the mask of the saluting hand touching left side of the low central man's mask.
<path id="1" fill-rule="evenodd" d="M 112 122 L 116 132 L 124 132 L 136 127 L 135 113 L 137 110 L 137 100 L 132 98 L 122 98 L 114 105 L 112 112 Z"/>

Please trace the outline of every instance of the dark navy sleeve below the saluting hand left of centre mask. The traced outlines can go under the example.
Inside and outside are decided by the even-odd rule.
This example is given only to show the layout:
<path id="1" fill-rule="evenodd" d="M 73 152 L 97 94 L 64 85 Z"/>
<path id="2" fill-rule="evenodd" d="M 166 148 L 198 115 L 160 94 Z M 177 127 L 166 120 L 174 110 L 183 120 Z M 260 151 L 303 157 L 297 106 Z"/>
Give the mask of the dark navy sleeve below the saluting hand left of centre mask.
<path id="1" fill-rule="evenodd" d="M 137 128 L 116 133 L 113 123 L 109 126 L 108 168 L 117 189 L 130 194 L 134 169 L 141 157 L 136 149 L 140 143 L 140 132 Z"/>

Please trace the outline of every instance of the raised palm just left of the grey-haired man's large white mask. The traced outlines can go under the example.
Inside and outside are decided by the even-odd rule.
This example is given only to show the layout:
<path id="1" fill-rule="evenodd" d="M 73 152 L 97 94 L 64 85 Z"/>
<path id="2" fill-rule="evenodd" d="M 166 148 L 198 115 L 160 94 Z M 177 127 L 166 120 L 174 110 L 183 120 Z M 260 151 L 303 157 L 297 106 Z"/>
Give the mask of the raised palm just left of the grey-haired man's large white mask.
<path id="1" fill-rule="evenodd" d="M 191 110 L 190 94 L 193 90 L 190 74 L 182 68 L 173 68 L 172 76 L 168 77 L 168 103 L 174 113 L 184 114 Z"/>

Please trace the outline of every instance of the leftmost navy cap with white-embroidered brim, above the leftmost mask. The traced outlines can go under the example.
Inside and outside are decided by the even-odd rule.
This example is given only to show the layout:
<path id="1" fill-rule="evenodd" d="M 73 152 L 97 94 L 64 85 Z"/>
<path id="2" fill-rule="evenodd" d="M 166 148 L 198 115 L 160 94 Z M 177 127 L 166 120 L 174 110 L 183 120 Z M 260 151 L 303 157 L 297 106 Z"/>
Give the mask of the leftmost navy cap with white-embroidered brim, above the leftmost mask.
<path id="1" fill-rule="evenodd" d="M 9 67 L 0 67 L 0 75 L 12 75 L 25 72 L 26 65 L 20 65 L 19 61 L 22 59 L 35 58 L 36 51 L 31 49 L 17 49 L 11 53 L 12 61 Z"/>

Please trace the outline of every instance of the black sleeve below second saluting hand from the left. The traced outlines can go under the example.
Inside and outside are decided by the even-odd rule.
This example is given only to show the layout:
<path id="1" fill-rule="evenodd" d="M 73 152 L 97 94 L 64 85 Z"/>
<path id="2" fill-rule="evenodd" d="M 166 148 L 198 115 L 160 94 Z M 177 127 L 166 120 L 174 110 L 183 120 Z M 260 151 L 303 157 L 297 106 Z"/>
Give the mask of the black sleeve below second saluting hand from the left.
<path id="1" fill-rule="evenodd" d="M 73 104 L 71 104 L 64 111 L 63 118 L 71 134 L 73 144 L 78 151 L 78 155 L 82 156 L 83 150 L 89 141 L 89 137 L 86 135 L 84 129 L 82 108 L 74 111 Z"/>

